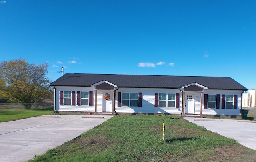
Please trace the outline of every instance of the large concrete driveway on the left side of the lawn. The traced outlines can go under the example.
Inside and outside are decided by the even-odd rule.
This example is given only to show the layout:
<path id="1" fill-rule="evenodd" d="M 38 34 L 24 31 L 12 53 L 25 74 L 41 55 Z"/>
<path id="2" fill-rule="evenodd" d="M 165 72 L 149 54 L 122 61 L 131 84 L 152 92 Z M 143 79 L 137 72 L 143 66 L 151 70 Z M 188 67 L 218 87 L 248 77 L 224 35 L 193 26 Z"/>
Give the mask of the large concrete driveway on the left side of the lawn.
<path id="1" fill-rule="evenodd" d="M 88 118 L 89 117 L 89 118 Z M 104 115 L 43 115 L 0 123 L 0 161 L 27 161 L 110 119 Z"/>

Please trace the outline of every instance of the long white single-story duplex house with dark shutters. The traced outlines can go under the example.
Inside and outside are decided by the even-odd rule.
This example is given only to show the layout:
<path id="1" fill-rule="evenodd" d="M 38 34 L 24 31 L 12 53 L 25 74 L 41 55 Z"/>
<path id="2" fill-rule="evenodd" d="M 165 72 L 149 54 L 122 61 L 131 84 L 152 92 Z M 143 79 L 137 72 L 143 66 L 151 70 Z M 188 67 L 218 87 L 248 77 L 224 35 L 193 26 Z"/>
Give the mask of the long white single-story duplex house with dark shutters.
<path id="1" fill-rule="evenodd" d="M 241 117 L 248 89 L 230 77 L 65 74 L 54 87 L 54 111 Z"/>

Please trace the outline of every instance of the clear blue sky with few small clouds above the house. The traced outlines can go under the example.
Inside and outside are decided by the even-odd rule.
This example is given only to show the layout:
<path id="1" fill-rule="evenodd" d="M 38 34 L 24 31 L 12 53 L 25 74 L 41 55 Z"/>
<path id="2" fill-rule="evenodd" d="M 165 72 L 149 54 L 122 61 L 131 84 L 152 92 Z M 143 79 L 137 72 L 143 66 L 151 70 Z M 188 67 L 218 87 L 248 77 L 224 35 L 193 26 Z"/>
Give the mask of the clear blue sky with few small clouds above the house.
<path id="1" fill-rule="evenodd" d="M 64 73 L 232 77 L 256 88 L 255 0 L 5 0 L 0 61 Z"/>

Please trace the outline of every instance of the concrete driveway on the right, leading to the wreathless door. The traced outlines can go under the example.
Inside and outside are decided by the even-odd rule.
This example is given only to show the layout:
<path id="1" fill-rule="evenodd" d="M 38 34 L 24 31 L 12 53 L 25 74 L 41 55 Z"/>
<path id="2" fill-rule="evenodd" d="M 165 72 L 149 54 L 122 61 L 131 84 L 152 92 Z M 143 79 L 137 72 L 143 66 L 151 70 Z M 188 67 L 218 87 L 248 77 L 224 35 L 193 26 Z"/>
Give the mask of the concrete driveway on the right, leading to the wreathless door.
<path id="1" fill-rule="evenodd" d="M 207 130 L 232 138 L 238 143 L 256 150 L 256 122 L 234 119 L 184 118 Z"/>

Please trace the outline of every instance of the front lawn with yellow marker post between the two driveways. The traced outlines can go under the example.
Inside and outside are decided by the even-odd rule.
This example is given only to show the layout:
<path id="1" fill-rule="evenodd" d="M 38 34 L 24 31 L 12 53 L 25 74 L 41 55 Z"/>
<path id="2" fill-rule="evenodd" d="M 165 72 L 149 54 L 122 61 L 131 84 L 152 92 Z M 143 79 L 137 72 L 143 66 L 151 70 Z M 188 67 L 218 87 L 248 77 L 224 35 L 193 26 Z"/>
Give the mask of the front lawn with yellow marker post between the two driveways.
<path id="1" fill-rule="evenodd" d="M 171 116 L 120 115 L 32 162 L 255 161 L 256 151 Z M 166 121 L 165 140 L 162 124 Z"/>

